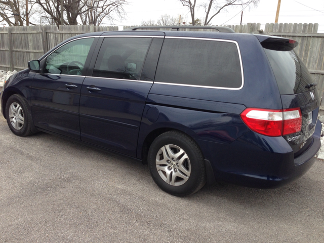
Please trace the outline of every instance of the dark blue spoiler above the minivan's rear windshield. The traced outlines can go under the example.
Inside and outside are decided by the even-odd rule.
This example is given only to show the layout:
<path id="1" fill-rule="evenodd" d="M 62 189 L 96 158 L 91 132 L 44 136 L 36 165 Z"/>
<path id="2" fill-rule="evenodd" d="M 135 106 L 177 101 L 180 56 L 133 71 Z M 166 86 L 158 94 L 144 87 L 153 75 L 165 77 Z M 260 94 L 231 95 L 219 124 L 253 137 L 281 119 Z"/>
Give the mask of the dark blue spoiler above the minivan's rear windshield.
<path id="1" fill-rule="evenodd" d="M 274 50 L 274 51 L 292 51 L 295 47 L 298 46 L 298 42 L 294 39 L 288 39 L 278 36 L 269 36 L 269 35 L 255 35 L 261 46 L 265 49 Z"/>

